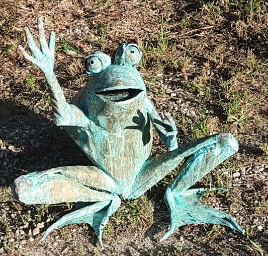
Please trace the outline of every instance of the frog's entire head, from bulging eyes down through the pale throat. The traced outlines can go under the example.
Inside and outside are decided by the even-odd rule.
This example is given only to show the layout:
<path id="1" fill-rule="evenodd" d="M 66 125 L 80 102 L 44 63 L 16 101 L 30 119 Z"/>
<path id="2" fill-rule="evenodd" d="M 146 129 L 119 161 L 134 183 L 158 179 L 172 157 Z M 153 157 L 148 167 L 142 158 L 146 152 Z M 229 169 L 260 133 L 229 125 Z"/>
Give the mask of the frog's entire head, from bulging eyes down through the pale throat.
<path id="1" fill-rule="evenodd" d="M 129 124 L 146 96 L 144 82 L 135 68 L 141 55 L 138 45 L 122 44 L 113 63 L 100 51 L 86 56 L 85 71 L 93 78 L 78 93 L 74 104 L 83 104 L 88 117 L 109 131 Z"/>

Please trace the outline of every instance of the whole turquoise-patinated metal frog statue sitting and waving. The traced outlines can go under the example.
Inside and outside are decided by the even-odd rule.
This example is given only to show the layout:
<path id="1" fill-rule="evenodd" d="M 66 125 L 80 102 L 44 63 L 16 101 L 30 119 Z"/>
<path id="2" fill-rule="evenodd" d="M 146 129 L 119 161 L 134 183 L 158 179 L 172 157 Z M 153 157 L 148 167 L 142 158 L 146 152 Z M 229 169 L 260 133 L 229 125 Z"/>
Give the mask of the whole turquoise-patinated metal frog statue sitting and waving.
<path id="1" fill-rule="evenodd" d="M 15 179 L 11 188 L 15 198 L 25 204 L 84 202 L 77 210 L 63 216 L 44 233 L 71 223 L 90 224 L 98 235 L 123 199 L 136 199 L 184 161 L 164 201 L 170 214 L 170 227 L 164 240 L 178 227 L 192 223 L 227 225 L 242 232 L 228 214 L 208 207 L 200 197 L 208 190 L 189 189 L 215 166 L 238 150 L 230 134 L 217 134 L 178 147 L 177 130 L 168 113 L 164 119 L 146 95 L 144 82 L 135 68 L 141 59 L 136 44 L 118 47 L 115 60 L 96 51 L 84 60 L 92 79 L 74 96 L 70 104 L 53 73 L 55 33 L 46 42 L 43 19 L 38 18 L 41 49 L 28 28 L 27 43 L 34 56 L 22 46 L 26 59 L 45 75 L 55 122 L 65 127 L 69 136 L 90 158 L 94 166 L 64 166 L 32 172 Z M 150 157 L 152 127 L 169 151 Z"/>

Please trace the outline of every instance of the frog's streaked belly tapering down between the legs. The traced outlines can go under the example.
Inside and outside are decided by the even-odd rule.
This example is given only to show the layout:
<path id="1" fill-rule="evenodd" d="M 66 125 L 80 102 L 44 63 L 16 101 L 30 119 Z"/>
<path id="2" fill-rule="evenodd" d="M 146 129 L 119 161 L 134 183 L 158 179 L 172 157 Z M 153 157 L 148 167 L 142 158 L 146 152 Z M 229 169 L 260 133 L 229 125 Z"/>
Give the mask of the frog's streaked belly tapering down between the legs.
<path id="1" fill-rule="evenodd" d="M 117 192 L 128 190 L 150 155 L 152 129 L 147 131 L 147 141 L 142 140 L 142 132 L 135 129 L 119 133 L 91 132 L 80 127 L 75 130 L 76 136 L 72 139 L 97 167 L 115 179 L 119 186 Z"/>

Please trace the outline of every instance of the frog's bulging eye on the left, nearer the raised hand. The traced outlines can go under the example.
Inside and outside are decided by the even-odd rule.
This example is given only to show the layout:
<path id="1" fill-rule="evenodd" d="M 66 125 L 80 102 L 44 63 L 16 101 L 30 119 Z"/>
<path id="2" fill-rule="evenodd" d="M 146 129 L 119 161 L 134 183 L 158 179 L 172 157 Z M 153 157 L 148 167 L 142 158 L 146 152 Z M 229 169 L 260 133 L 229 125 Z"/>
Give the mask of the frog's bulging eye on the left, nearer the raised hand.
<path id="1" fill-rule="evenodd" d="M 91 76 L 105 70 L 109 65 L 111 65 L 110 56 L 100 51 L 95 51 L 84 59 L 85 72 Z"/>

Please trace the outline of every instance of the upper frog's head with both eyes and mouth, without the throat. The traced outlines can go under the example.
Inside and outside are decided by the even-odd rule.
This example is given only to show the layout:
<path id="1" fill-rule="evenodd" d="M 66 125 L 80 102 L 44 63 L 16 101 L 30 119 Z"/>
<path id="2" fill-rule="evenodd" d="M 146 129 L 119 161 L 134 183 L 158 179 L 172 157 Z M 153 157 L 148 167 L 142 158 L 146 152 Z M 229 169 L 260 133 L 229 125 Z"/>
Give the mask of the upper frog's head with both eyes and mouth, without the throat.
<path id="1" fill-rule="evenodd" d="M 118 47 L 115 60 L 96 51 L 84 59 L 85 71 L 93 79 L 88 83 L 88 92 L 100 95 L 103 101 L 122 102 L 145 91 L 144 82 L 135 66 L 141 59 L 141 50 L 136 44 Z"/>

